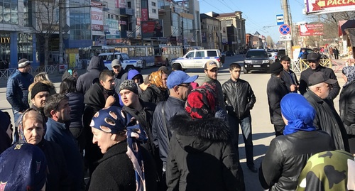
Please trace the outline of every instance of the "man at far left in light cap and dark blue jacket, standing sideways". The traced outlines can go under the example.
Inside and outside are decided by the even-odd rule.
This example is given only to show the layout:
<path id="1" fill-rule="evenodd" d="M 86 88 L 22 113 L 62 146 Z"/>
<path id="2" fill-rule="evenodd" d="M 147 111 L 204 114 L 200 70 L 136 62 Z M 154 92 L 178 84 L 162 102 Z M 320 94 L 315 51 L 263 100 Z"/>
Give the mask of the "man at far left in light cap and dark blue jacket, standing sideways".
<path id="1" fill-rule="evenodd" d="M 17 121 L 23 111 L 28 109 L 28 87 L 33 83 L 31 62 L 23 58 L 18 61 L 18 69 L 7 80 L 6 99 L 11 104 L 13 120 Z M 15 127 L 13 141 L 18 140 L 17 126 Z"/>

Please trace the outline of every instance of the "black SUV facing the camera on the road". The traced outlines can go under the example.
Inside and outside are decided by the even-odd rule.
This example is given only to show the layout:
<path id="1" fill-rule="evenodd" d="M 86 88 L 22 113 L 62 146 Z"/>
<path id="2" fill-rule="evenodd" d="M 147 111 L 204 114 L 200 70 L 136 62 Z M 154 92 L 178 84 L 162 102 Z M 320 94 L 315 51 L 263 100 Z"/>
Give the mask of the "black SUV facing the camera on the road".
<path id="1" fill-rule="evenodd" d="M 268 53 L 264 49 L 248 50 L 244 58 L 244 74 L 248 74 L 252 70 L 265 71 L 270 70 L 271 61 L 268 58 Z"/>

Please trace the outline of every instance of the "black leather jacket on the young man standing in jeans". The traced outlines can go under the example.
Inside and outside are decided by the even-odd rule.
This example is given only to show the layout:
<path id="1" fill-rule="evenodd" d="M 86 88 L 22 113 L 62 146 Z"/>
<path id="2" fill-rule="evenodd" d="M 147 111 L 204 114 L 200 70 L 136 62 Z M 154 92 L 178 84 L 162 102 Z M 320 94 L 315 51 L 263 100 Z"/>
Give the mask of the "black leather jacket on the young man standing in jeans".
<path id="1" fill-rule="evenodd" d="M 241 79 L 236 81 L 229 79 L 222 85 L 222 90 L 229 115 L 243 119 L 244 116 L 250 114 L 250 109 L 253 109 L 256 97 L 249 82 Z"/>

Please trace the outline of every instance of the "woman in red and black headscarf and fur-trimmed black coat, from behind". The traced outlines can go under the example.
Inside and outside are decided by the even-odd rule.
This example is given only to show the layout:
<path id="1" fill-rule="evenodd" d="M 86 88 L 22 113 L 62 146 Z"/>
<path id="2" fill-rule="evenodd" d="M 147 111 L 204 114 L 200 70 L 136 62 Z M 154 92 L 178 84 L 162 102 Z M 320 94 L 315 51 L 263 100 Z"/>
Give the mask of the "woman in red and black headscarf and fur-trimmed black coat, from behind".
<path id="1" fill-rule="evenodd" d="M 187 116 L 170 119 L 173 135 L 166 166 L 168 190 L 245 190 L 229 126 L 215 117 L 212 89 L 193 89 L 185 111 Z"/>

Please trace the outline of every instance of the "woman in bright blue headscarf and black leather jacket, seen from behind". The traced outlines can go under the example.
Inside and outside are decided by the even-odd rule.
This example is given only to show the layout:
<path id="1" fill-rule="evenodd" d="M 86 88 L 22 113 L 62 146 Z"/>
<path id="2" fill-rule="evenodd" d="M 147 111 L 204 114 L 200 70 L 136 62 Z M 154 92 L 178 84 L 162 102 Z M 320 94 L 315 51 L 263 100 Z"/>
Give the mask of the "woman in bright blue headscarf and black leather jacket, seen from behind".
<path id="1" fill-rule="evenodd" d="M 259 169 L 259 180 L 268 190 L 295 190 L 297 178 L 314 153 L 334 150 L 328 133 L 313 126 L 315 109 L 300 94 L 281 99 L 284 136 L 273 138 Z"/>

